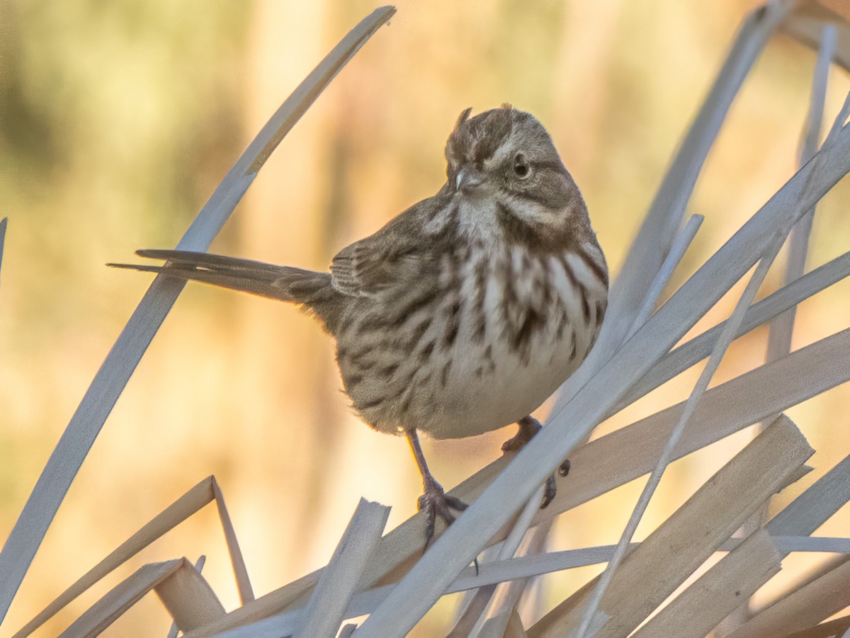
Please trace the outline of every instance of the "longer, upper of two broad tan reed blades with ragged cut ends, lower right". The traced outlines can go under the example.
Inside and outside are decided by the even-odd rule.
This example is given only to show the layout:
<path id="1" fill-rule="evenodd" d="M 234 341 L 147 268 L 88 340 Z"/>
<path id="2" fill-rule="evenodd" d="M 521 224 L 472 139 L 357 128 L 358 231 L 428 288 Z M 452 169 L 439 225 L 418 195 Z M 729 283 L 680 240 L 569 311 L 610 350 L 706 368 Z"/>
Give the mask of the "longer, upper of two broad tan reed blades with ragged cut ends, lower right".
<path id="1" fill-rule="evenodd" d="M 599 605 L 611 619 L 596 638 L 634 630 L 813 453 L 785 415 L 754 438 L 623 559 Z M 566 611 L 555 607 L 528 634 L 573 635 L 584 613 L 583 604 L 571 601 Z"/>

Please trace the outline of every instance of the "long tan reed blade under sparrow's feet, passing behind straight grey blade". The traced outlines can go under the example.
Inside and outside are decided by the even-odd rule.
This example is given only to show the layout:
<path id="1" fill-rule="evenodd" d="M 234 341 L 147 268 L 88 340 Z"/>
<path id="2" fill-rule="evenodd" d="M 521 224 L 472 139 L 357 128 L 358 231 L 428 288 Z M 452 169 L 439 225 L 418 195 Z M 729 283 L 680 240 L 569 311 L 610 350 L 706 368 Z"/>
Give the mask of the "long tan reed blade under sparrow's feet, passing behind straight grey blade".
<path id="1" fill-rule="evenodd" d="M 814 375 L 817 371 L 826 371 L 826 374 Z M 675 456 L 681 458 L 704 448 L 761 421 L 767 415 L 802 403 L 846 381 L 850 381 L 850 329 L 803 347 L 774 364 L 763 365 L 711 388 L 694 412 Z M 553 502 L 536 513 L 532 524 L 551 520 L 649 472 L 682 408 L 682 404 L 674 405 L 575 449 L 570 455 L 569 483 L 561 485 Z M 475 500 L 507 466 L 507 462 L 507 456 L 503 456 L 490 463 L 452 489 L 450 494 L 466 502 Z M 390 573 L 398 573 L 399 568 L 420 556 L 425 529 L 423 520 L 424 517 L 417 514 L 381 539 L 361 581 L 362 589 L 374 586 Z M 454 525 L 456 522 L 452 523 L 452 527 Z M 491 542 L 499 542 L 508 532 L 509 529 L 504 528 L 493 534 Z M 796 534 L 796 531 L 783 528 L 782 534 Z M 193 632 L 192 638 L 214 635 L 282 612 L 314 587 L 320 573 L 321 570 L 309 573 L 235 609 L 220 622 L 203 628 L 201 632 Z M 469 587 L 479 584 L 486 583 L 473 583 Z"/>

